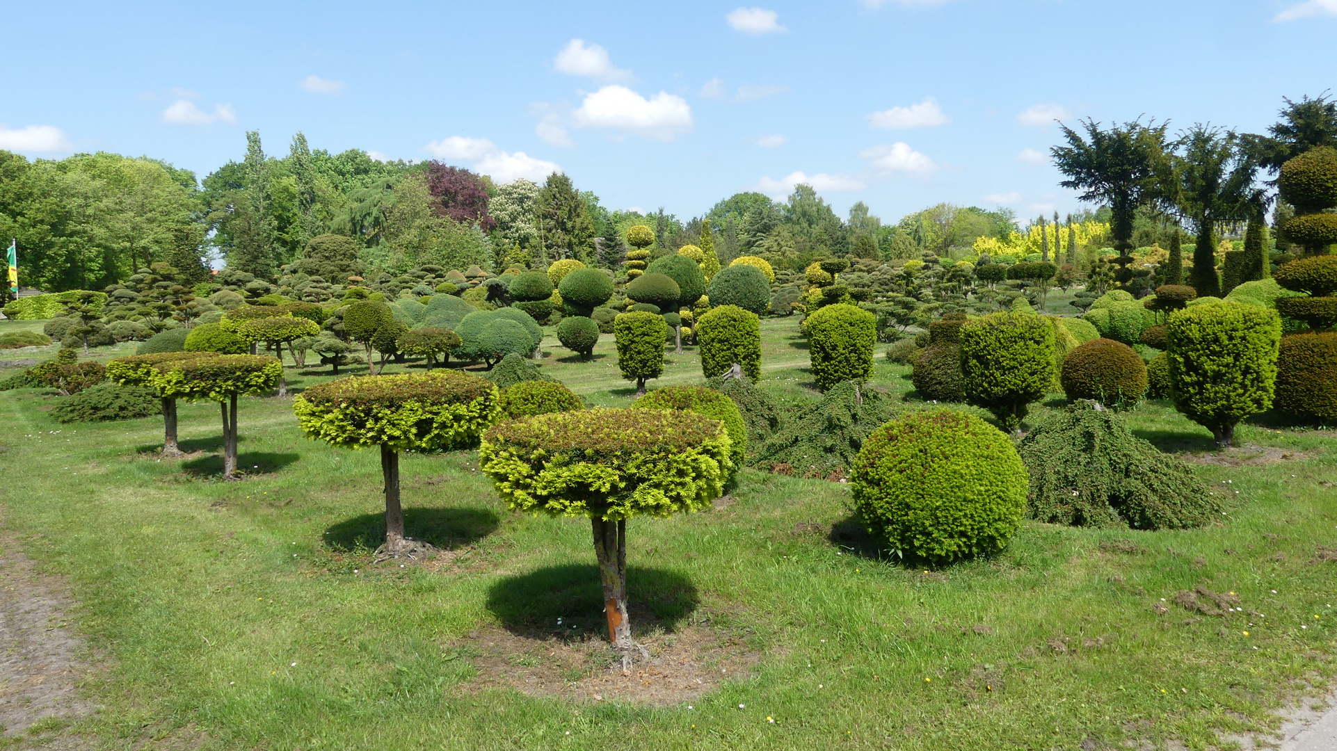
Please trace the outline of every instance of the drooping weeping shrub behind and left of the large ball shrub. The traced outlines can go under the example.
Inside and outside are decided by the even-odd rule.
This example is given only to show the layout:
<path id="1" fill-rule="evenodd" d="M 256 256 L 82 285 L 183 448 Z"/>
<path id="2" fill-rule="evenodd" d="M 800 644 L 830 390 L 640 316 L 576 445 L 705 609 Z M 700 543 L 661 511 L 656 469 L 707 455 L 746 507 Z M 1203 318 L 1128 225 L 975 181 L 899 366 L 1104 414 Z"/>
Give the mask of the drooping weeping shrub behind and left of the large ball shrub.
<path id="1" fill-rule="evenodd" d="M 842 478 L 868 436 L 896 414 L 894 402 L 868 384 L 837 384 L 817 404 L 798 408 L 751 464 L 781 474 Z"/>

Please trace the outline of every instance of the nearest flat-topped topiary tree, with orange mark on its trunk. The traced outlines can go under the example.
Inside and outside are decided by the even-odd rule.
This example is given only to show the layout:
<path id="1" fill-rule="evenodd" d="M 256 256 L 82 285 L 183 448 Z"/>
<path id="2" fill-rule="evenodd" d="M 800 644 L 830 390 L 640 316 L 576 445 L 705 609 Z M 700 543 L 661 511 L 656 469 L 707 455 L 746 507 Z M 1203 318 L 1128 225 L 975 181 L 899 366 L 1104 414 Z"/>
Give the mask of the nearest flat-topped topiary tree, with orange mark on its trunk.
<path id="1" fill-rule="evenodd" d="M 588 409 L 492 428 L 479 466 L 515 510 L 590 517 L 608 640 L 630 660 L 627 520 L 709 508 L 733 470 L 723 425 L 701 414 Z"/>

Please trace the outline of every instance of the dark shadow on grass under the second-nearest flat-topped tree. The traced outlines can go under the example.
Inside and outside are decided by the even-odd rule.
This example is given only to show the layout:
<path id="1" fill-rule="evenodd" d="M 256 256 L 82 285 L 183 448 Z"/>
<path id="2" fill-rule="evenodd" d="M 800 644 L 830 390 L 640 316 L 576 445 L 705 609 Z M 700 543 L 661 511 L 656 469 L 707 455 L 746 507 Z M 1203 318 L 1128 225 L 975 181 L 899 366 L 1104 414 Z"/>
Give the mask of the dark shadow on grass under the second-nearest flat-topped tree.
<path id="1" fill-rule="evenodd" d="M 405 508 L 404 535 L 451 549 L 468 545 L 496 532 L 501 518 L 480 508 Z M 325 531 L 325 545 L 336 551 L 374 551 L 385 543 L 385 513 L 365 513 Z"/>

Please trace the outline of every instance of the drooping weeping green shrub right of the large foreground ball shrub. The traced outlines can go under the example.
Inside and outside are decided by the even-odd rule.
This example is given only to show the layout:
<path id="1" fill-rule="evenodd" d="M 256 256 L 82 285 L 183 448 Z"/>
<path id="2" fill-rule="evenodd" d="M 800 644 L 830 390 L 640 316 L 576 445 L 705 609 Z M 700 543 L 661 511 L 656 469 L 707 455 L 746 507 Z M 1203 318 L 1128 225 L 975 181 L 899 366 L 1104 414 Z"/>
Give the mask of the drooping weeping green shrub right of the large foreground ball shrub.
<path id="1" fill-rule="evenodd" d="M 1138 438 L 1112 412 L 1082 400 L 1021 438 L 1029 516 L 1074 527 L 1183 529 L 1221 514 L 1193 470 Z"/>

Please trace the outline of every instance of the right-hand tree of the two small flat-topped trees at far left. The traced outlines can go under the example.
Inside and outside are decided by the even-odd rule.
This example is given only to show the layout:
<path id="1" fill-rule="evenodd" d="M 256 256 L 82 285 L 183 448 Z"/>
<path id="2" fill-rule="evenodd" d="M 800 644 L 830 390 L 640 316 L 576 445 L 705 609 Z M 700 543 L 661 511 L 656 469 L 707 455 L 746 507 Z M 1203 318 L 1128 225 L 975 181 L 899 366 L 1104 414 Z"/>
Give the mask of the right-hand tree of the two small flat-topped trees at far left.
<path id="1" fill-rule="evenodd" d="M 223 480 L 237 478 L 237 397 L 262 394 L 283 377 L 273 357 L 217 354 L 154 365 L 152 388 L 163 397 L 217 401 L 223 416 Z"/>

